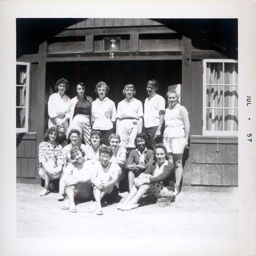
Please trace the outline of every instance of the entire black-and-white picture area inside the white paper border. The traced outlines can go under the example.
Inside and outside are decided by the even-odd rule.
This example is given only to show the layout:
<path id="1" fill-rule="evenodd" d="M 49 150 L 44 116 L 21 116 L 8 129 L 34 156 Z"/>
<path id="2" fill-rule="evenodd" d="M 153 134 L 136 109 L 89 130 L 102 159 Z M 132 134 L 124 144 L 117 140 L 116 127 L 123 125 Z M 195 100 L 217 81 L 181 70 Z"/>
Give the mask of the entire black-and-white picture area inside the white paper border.
<path id="1" fill-rule="evenodd" d="M 18 238 L 238 238 L 238 19 L 16 33 Z"/>

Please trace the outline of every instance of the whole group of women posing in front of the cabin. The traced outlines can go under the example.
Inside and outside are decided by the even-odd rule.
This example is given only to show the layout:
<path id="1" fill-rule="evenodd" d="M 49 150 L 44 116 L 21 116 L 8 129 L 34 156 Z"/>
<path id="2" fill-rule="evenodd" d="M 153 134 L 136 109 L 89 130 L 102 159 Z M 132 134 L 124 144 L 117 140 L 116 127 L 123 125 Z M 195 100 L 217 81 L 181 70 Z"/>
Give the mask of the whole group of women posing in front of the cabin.
<path id="1" fill-rule="evenodd" d="M 70 212 L 77 211 L 77 200 L 94 199 L 88 211 L 102 215 L 102 198 L 117 200 L 119 184 L 127 180 L 130 194 L 118 209 L 138 207 L 145 194 L 173 200 L 180 192 L 189 136 L 188 113 L 177 92 L 167 93 L 165 109 L 157 82 L 147 81 L 143 115 L 133 84 L 124 86 L 125 98 L 117 109 L 105 82 L 96 84 L 96 100 L 84 94 L 83 83 L 70 100 L 68 86 L 65 78 L 59 79 L 57 92 L 49 97 L 49 127 L 39 144 L 38 170 L 45 183 L 39 195 L 57 188 L 58 200 L 65 200 L 62 209 Z"/>

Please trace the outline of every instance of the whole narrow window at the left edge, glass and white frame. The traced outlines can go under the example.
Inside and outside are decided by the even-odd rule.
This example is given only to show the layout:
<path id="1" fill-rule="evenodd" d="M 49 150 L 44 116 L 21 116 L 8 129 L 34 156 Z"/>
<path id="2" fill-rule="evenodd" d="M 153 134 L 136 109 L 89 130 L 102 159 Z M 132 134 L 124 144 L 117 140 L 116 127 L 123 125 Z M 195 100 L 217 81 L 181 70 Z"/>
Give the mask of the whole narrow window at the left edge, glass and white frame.
<path id="1" fill-rule="evenodd" d="M 28 132 L 30 63 L 16 63 L 16 132 Z"/>

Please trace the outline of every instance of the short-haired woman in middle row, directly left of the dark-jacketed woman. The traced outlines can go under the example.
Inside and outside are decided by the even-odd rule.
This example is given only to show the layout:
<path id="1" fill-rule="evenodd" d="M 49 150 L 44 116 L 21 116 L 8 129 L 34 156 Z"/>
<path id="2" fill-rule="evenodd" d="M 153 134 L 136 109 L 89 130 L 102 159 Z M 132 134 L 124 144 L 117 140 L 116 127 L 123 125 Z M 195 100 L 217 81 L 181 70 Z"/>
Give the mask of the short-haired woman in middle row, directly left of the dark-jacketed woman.
<path id="1" fill-rule="evenodd" d="M 121 139 L 118 134 L 112 133 L 110 135 L 109 143 L 113 152 L 113 156 L 111 157 L 110 161 L 113 163 L 117 163 L 121 168 L 120 179 L 117 182 L 118 184 L 125 176 L 124 166 L 126 163 L 126 153 L 127 153 L 125 147 L 120 145 L 120 142 L 121 142 Z"/>

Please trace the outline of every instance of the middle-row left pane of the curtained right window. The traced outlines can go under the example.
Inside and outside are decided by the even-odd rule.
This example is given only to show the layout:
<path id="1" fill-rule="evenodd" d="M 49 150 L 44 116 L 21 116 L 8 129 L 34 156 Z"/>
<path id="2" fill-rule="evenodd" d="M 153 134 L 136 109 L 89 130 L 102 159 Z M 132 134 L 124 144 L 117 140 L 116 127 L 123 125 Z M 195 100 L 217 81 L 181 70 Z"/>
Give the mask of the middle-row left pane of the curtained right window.
<path id="1" fill-rule="evenodd" d="M 206 107 L 221 108 L 223 106 L 223 86 L 207 86 L 206 88 Z"/>

